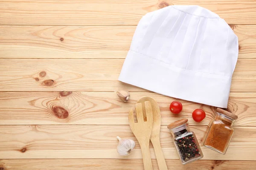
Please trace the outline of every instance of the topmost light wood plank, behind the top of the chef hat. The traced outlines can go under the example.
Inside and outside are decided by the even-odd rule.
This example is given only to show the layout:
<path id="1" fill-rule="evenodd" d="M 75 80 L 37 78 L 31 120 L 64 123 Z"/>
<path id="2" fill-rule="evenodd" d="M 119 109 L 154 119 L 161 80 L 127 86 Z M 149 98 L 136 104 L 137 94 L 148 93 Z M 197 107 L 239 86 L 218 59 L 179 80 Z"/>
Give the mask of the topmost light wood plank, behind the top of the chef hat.
<path id="1" fill-rule="evenodd" d="M 2 0 L 4 25 L 137 25 L 150 11 L 169 5 L 199 5 L 229 24 L 256 24 L 255 0 Z"/>

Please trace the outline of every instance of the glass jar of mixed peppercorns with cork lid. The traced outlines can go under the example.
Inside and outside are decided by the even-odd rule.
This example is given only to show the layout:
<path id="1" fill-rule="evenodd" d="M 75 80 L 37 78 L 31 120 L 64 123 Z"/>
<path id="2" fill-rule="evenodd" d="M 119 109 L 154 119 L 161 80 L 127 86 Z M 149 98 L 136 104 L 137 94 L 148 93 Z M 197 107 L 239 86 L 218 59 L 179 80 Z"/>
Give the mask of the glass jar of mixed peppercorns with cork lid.
<path id="1" fill-rule="evenodd" d="M 173 143 L 182 164 L 203 158 L 195 133 L 189 130 L 188 119 L 180 119 L 167 127 L 172 132 Z"/>

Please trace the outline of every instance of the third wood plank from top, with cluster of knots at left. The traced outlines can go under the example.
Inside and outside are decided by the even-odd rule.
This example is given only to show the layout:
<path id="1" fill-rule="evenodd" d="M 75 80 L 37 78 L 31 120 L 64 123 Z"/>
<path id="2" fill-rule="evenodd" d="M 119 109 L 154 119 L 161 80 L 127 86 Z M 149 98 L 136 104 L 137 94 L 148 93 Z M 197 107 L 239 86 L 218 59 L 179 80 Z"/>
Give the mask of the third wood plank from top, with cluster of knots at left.
<path id="1" fill-rule="evenodd" d="M 118 81 L 124 59 L 0 59 L 0 91 L 146 91 Z M 256 92 L 256 59 L 239 59 L 231 92 Z"/>

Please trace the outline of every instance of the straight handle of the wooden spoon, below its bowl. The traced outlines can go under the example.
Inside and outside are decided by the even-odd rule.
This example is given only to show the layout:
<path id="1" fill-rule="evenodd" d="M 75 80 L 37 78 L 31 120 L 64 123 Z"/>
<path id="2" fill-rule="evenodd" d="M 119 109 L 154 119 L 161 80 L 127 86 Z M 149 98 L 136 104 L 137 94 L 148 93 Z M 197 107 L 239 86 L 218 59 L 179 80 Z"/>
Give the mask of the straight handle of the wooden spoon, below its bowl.
<path id="1" fill-rule="evenodd" d="M 151 142 L 153 144 L 154 151 L 157 157 L 157 164 L 158 164 L 159 170 L 168 170 L 166 161 L 163 156 L 163 151 L 160 145 L 160 139 L 157 139 L 157 138 L 153 140 L 151 139 Z"/>

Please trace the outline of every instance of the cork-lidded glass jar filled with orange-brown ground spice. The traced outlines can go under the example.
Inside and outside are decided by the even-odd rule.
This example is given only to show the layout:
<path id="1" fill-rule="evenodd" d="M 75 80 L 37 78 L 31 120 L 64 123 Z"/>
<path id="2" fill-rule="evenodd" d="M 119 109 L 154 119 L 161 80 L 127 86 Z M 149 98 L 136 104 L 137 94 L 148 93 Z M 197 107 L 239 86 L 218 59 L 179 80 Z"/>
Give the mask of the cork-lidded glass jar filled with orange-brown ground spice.
<path id="1" fill-rule="evenodd" d="M 225 154 L 233 136 L 233 122 L 238 118 L 233 113 L 217 108 L 215 119 L 212 120 L 204 135 L 204 146 L 218 153 Z"/>

